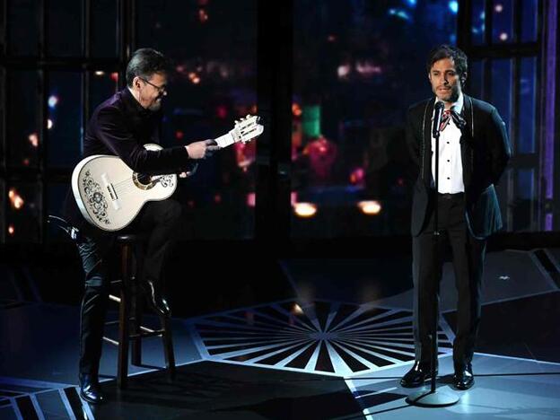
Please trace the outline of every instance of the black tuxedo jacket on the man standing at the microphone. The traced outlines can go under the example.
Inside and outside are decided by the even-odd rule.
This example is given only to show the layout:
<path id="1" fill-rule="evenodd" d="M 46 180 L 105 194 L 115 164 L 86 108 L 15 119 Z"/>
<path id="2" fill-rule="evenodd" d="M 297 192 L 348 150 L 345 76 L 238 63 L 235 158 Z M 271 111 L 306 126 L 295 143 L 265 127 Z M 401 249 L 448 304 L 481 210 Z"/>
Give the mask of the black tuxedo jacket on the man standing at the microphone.
<path id="1" fill-rule="evenodd" d="M 503 119 L 494 106 L 463 94 L 460 151 L 465 185 L 465 217 L 468 230 L 485 239 L 502 228 L 502 215 L 494 186 L 510 159 L 511 148 Z M 411 233 L 423 232 L 433 199 L 432 119 L 435 98 L 408 109 L 407 145 L 420 171 L 413 192 Z"/>

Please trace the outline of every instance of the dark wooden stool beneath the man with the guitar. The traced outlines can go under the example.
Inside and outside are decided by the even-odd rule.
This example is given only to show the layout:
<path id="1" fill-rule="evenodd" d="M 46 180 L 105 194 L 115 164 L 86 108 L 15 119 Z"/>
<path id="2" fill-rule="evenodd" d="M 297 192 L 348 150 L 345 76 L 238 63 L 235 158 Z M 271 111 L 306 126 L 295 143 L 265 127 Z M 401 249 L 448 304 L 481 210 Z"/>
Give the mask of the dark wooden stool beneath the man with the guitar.
<path id="1" fill-rule="evenodd" d="M 118 302 L 118 320 L 106 322 L 105 325 L 118 324 L 118 341 L 109 337 L 103 339 L 118 346 L 117 381 L 120 389 L 127 387 L 129 342 L 133 342 L 131 363 L 139 366 L 142 365 L 142 338 L 144 337 L 162 337 L 165 365 L 170 378 L 175 376 L 175 354 L 170 319 L 159 316 L 160 329 L 146 328 L 142 325 L 144 293 L 136 274 L 140 272 L 142 248 L 146 241 L 147 235 L 127 233 L 118 235 L 115 243 L 119 249 L 120 267 L 117 279 L 111 281 L 111 286 L 118 286 L 118 291 L 116 294 L 109 294 L 109 300 Z"/>

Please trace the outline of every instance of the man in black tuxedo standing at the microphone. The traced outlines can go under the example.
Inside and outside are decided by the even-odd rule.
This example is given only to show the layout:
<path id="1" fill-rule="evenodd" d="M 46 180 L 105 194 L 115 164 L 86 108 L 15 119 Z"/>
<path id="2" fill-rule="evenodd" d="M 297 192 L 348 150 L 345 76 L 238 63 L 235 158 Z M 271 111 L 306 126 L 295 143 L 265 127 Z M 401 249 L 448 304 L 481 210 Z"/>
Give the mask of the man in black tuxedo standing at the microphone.
<path id="1" fill-rule="evenodd" d="M 407 388 L 430 379 L 433 317 L 439 313 L 434 305 L 439 302 L 444 246 L 451 247 L 459 295 L 453 384 L 457 389 L 469 389 L 474 383 L 471 361 L 480 320 L 486 238 L 502 228 L 494 185 L 511 152 L 498 111 L 462 92 L 467 69 L 467 56 L 459 48 L 434 48 L 427 71 L 435 97 L 413 105 L 407 114 L 407 144 L 420 169 L 411 225 L 416 362 L 401 380 Z M 432 125 L 435 103 L 440 101 L 444 111 L 440 147 L 435 151 Z M 435 153 L 439 153 L 437 192 Z M 436 206 L 437 239 L 433 235 Z"/>

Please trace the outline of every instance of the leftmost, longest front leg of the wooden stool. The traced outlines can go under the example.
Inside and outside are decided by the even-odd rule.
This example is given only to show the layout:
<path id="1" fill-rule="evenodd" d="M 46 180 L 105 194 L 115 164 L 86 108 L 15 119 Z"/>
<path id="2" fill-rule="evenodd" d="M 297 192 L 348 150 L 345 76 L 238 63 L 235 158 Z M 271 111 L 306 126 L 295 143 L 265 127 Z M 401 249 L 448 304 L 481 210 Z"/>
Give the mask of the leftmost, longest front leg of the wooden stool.
<path id="1" fill-rule="evenodd" d="M 118 367 L 117 382 L 118 388 L 127 387 L 128 378 L 128 287 L 130 287 L 130 247 L 124 245 L 121 248 L 121 275 L 122 283 L 120 287 L 120 308 L 118 313 Z"/>

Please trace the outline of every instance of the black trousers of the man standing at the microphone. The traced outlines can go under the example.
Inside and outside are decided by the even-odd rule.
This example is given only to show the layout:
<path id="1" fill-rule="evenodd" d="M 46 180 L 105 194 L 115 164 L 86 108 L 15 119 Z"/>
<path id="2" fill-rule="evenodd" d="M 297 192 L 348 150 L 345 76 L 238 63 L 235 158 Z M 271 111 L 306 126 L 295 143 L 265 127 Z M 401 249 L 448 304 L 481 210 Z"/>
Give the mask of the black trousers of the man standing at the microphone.
<path id="1" fill-rule="evenodd" d="M 472 361 L 480 323 L 480 291 L 486 240 L 468 232 L 464 195 L 438 196 L 438 228 L 433 237 L 433 206 L 429 221 L 413 238 L 414 337 L 416 361 L 430 363 L 434 315 L 439 316 L 439 292 L 446 251 L 451 248 L 458 292 L 457 328 L 453 342 L 453 363 L 462 368 Z M 437 308 L 437 309 L 436 309 Z"/>

